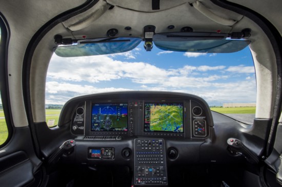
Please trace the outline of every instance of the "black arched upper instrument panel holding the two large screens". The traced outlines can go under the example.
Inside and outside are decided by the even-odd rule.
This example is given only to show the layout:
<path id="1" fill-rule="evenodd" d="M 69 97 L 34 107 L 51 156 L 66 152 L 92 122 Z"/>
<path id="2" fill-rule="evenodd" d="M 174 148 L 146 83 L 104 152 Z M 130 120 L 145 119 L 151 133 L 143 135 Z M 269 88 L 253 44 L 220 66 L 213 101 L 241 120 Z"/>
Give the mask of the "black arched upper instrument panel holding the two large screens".
<path id="1" fill-rule="evenodd" d="M 159 99 L 161 98 L 161 99 Z M 72 110 L 72 112 L 70 112 Z M 207 103 L 194 95 L 174 92 L 116 92 L 71 99 L 63 108 L 71 113 L 75 136 L 160 136 L 206 138 L 213 126 Z"/>

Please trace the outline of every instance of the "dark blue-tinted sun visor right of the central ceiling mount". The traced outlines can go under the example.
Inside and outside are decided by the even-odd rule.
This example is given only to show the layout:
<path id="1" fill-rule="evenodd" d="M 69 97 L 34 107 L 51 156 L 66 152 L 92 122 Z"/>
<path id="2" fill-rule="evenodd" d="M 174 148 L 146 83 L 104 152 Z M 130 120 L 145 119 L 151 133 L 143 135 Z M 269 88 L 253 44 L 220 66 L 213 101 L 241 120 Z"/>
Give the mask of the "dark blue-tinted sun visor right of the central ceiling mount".
<path id="1" fill-rule="evenodd" d="M 225 33 L 176 32 L 153 36 L 157 48 L 166 51 L 196 53 L 233 53 L 243 50 L 251 41 L 231 39 Z"/>

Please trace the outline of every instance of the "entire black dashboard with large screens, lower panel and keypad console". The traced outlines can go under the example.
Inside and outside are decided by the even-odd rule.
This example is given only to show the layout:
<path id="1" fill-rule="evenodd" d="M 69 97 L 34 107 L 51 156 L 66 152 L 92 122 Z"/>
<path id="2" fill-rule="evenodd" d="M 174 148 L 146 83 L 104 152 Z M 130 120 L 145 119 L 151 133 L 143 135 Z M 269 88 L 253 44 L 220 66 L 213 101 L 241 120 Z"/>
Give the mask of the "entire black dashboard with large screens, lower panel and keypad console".
<path id="1" fill-rule="evenodd" d="M 227 140 L 244 139 L 241 131 L 251 128 L 211 112 L 200 97 L 159 91 L 73 98 L 62 110 L 60 126 L 69 126 L 75 143 L 66 160 L 87 167 L 126 166 L 132 184 L 164 186 L 173 183 L 176 166 L 241 163 L 244 158 Z"/>

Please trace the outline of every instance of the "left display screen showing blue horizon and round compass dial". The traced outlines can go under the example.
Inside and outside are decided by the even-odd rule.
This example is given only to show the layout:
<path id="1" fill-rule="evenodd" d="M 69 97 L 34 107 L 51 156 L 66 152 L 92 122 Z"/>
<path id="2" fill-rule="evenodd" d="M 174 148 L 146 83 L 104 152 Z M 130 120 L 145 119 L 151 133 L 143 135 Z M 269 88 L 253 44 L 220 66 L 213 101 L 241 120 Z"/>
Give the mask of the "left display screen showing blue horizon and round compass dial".
<path id="1" fill-rule="evenodd" d="M 91 131 L 127 131 L 127 103 L 92 105 Z"/>

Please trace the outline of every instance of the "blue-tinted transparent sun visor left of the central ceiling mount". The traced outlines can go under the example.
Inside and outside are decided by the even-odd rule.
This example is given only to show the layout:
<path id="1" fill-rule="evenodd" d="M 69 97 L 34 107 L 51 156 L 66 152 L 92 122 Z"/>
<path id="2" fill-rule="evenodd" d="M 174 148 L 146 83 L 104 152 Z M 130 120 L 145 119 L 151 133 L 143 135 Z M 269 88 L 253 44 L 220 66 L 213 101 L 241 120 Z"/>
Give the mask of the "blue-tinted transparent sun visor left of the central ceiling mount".
<path id="1" fill-rule="evenodd" d="M 133 37 L 84 39 L 73 45 L 57 46 L 54 52 L 60 57 L 123 53 L 133 50 L 141 41 L 141 38 Z"/>

